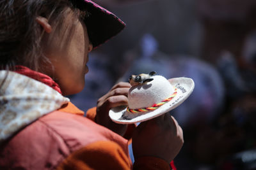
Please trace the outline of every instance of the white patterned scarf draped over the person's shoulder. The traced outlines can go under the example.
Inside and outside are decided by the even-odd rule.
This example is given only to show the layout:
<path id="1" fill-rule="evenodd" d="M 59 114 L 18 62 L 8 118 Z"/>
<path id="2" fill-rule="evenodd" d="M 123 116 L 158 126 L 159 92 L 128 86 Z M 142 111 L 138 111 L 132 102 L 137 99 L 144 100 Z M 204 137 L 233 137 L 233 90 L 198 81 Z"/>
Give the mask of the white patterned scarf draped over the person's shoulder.
<path id="1" fill-rule="evenodd" d="M 68 102 L 67 97 L 40 81 L 0 71 L 0 143 Z"/>

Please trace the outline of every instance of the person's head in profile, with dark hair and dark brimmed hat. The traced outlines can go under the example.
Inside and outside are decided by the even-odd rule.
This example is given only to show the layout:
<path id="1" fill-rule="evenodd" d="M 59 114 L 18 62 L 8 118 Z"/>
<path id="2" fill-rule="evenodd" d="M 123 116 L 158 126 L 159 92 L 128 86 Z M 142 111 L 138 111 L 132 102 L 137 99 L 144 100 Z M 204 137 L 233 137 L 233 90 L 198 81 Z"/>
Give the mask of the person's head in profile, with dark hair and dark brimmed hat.
<path id="1" fill-rule="evenodd" d="M 77 93 L 88 52 L 124 26 L 90 0 L 2 0 L 0 69 L 27 66 L 51 76 L 63 94 Z"/>

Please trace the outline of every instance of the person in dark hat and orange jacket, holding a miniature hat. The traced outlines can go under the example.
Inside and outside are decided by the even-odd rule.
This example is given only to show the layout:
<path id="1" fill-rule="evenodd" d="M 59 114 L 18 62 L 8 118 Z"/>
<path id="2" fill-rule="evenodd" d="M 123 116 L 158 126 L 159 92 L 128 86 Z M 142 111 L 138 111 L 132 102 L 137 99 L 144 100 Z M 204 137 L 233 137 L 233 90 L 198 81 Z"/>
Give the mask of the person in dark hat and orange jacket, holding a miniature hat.
<path id="1" fill-rule="evenodd" d="M 127 105 L 128 83 L 88 118 L 64 97 L 83 89 L 88 53 L 124 22 L 89 0 L 1 0 L 0 20 L 1 169 L 170 169 L 183 143 L 173 117 L 134 130 L 133 165 L 122 137 L 129 128 L 108 117 Z"/>

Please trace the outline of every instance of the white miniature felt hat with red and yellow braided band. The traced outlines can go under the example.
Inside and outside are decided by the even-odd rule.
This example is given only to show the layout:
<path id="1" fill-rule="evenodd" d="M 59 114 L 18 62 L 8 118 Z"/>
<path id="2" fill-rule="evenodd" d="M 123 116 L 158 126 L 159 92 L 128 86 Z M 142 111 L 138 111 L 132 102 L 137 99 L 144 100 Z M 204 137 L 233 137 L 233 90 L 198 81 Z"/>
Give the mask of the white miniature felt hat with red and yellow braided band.
<path id="1" fill-rule="evenodd" d="M 118 124 L 133 124 L 159 117 L 184 102 L 195 87 L 191 78 L 151 76 L 154 80 L 132 86 L 128 92 L 128 107 L 109 110 L 109 117 Z"/>

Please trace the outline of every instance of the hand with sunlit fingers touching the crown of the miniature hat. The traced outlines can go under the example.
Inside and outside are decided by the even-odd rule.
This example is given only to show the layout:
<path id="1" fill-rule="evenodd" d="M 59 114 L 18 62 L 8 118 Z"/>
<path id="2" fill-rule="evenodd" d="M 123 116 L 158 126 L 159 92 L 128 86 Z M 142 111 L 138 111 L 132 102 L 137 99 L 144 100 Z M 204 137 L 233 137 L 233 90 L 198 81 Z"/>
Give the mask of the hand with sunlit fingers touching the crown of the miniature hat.
<path id="1" fill-rule="evenodd" d="M 127 94 L 131 85 L 126 82 L 120 82 L 112 87 L 104 96 L 100 97 L 97 102 L 97 114 L 95 122 L 107 127 L 113 132 L 124 135 L 127 125 L 116 124 L 109 118 L 109 110 L 116 106 L 128 106 Z"/>

